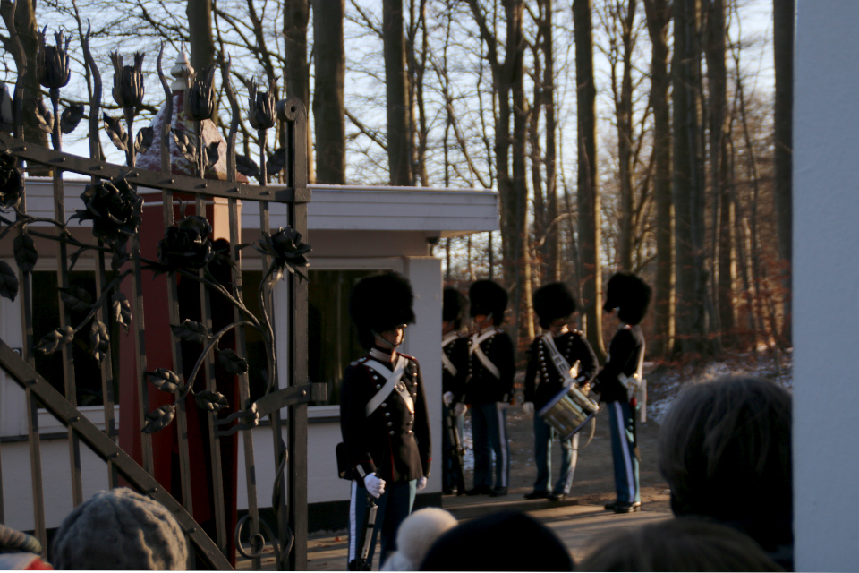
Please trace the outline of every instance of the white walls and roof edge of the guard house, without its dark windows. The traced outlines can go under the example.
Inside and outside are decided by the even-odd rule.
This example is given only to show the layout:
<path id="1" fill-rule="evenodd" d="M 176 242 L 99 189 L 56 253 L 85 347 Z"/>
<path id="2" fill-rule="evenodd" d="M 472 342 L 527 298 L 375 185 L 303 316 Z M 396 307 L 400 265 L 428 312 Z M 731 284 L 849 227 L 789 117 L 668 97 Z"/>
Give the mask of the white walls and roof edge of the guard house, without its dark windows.
<path id="1" fill-rule="evenodd" d="M 67 184 L 66 209 L 82 207 L 85 182 Z M 393 187 L 333 187 L 311 185 L 308 206 L 308 235 L 313 270 L 395 270 L 412 283 L 416 321 L 406 330 L 403 351 L 421 363 L 426 384 L 432 436 L 433 466 L 427 488 L 419 493 L 415 507 L 440 505 L 441 501 L 441 261 L 430 256 L 430 246 L 438 239 L 498 230 L 498 193 L 484 190 L 438 190 Z M 28 208 L 34 215 L 44 210 L 53 215 L 51 181 L 28 182 Z M 270 205 L 271 225 L 285 225 L 285 206 Z M 259 210 L 252 202 L 242 205 L 242 241 L 251 242 L 259 233 Z M 36 270 L 55 270 L 53 245 L 40 247 Z M 245 249 L 242 256 L 258 256 Z M 11 265 L 11 253 L 0 252 Z M 89 264 L 89 267 L 87 266 Z M 76 269 L 92 270 L 93 262 L 81 259 Z M 256 269 L 247 261 L 245 269 Z M 310 288 L 312 288 L 312 283 Z M 278 312 L 285 304 L 285 283 L 275 290 L 275 328 L 285 331 L 287 315 Z M 52 294 L 55 295 L 55 294 Z M 0 298 L 0 337 L 10 346 L 21 346 L 19 301 Z M 285 339 L 280 339 L 277 358 L 285 364 Z M 324 356 L 322 357 L 325 358 Z M 287 372 L 286 368 L 279 369 Z M 280 386 L 286 380 L 278 381 Z M 2 440 L 3 501 L 6 525 L 33 528 L 30 453 L 23 391 L 0 370 L 0 440 Z M 103 427 L 102 406 L 81 406 L 81 411 Z M 336 475 L 335 447 L 341 441 L 339 406 L 310 406 L 308 427 L 308 502 L 310 531 L 346 526 L 349 483 Z M 286 410 L 282 414 L 286 415 Z M 116 407 L 117 419 L 122 415 Z M 41 457 L 45 492 L 46 525 L 54 528 L 72 510 L 69 479 L 69 448 L 60 423 L 40 411 Z M 271 455 L 272 435 L 268 427 L 253 432 L 257 502 L 265 512 L 271 506 L 275 467 Z M 286 432 L 284 431 L 284 440 Z M 288 446 L 288 444 L 287 444 Z M 243 459 L 239 440 L 239 459 Z M 81 447 L 83 496 L 107 488 L 104 463 L 85 446 Z M 239 472 L 238 508 L 248 507 L 243 471 Z"/>

